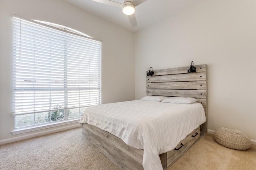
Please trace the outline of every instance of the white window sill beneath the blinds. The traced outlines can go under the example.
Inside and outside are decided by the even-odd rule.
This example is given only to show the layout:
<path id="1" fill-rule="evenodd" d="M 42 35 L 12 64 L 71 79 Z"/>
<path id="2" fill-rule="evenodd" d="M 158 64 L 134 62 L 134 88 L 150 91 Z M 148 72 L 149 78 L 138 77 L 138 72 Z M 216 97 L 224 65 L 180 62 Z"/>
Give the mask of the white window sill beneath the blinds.
<path id="1" fill-rule="evenodd" d="M 42 129 L 48 129 L 48 128 L 52 128 L 52 127 L 70 125 L 73 123 L 75 124 L 75 123 L 79 123 L 79 121 L 80 121 L 80 118 L 72 119 L 72 120 L 68 120 L 68 121 L 62 121 L 62 122 L 54 122 L 54 123 L 47 124 L 47 125 L 38 125 L 38 126 L 34 126 L 34 127 L 15 129 L 11 133 L 12 133 L 12 135 L 18 135 L 18 134 L 22 134 L 22 133 L 28 133 L 28 132 L 38 131 L 38 130 L 42 130 Z"/>

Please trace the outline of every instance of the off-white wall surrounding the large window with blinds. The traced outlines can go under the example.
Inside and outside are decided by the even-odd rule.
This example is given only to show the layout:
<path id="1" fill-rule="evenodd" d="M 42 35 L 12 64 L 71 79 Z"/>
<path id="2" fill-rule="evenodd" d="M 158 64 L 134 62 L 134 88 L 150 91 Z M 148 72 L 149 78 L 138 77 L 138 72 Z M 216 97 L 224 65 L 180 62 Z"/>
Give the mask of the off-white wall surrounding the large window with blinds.
<path id="1" fill-rule="evenodd" d="M 12 14 L 58 23 L 102 40 L 102 103 L 134 100 L 134 33 L 62 0 L 0 0 L 0 144 L 74 126 L 13 136 Z M 122 54 L 122 55 L 121 55 Z M 130 74 L 123 74 L 129 70 Z"/>

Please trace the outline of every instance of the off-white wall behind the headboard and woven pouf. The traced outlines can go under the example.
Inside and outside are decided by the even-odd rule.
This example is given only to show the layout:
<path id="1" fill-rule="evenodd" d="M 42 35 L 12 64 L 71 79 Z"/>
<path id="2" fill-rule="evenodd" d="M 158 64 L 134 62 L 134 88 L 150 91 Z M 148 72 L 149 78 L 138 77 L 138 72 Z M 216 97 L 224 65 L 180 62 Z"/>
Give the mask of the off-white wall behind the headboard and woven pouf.
<path id="1" fill-rule="evenodd" d="M 256 1 L 202 0 L 135 35 L 135 98 L 145 72 L 208 65 L 208 129 L 238 129 L 256 140 Z"/>

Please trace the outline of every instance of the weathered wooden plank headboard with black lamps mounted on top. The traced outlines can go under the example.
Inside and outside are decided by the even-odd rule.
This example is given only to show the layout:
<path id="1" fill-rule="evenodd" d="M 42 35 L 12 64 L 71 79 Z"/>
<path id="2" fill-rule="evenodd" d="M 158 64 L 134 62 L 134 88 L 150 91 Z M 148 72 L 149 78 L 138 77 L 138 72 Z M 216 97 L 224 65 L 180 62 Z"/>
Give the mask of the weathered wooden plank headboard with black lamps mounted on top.
<path id="1" fill-rule="evenodd" d="M 195 65 L 196 72 L 188 73 L 190 66 L 153 70 L 146 76 L 147 95 L 197 98 L 204 107 L 206 122 L 200 133 L 207 133 L 207 66 Z M 201 134 L 200 134 L 201 135 Z"/>

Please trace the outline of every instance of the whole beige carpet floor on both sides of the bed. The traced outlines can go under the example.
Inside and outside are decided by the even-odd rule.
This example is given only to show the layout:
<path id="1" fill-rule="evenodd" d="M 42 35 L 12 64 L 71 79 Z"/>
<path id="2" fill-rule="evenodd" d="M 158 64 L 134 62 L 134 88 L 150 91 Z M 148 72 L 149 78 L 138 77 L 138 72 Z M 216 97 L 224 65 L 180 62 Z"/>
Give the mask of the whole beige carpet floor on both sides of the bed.
<path id="1" fill-rule="evenodd" d="M 118 170 L 82 137 L 82 129 L 0 145 L 0 170 Z M 256 170 L 256 146 L 225 148 L 206 134 L 168 170 Z"/>

